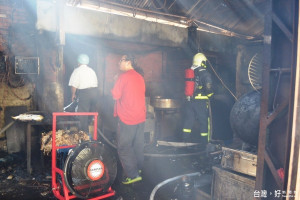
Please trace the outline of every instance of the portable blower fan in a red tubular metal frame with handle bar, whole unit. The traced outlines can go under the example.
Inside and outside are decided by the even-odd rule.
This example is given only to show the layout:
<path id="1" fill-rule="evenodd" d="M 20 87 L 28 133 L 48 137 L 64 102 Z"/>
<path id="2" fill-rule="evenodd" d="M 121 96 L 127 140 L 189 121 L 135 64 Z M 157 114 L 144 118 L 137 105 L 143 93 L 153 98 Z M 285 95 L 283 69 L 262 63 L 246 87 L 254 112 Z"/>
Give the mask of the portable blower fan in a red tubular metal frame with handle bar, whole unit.
<path id="1" fill-rule="evenodd" d="M 78 145 L 56 146 L 58 116 L 94 116 L 93 140 Z M 109 147 L 97 141 L 98 113 L 53 113 L 52 125 L 52 190 L 60 200 L 74 198 L 104 199 L 115 195 L 112 190 L 117 175 L 117 159 Z M 59 151 L 68 151 L 63 169 L 57 167 Z"/>

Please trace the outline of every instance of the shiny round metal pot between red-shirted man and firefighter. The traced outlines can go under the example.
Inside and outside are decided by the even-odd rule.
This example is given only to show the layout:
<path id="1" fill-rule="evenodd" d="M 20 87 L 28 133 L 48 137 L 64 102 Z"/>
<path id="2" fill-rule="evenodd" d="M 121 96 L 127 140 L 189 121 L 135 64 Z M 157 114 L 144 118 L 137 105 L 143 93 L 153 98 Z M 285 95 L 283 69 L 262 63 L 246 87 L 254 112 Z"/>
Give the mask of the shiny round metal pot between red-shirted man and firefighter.
<path id="1" fill-rule="evenodd" d="M 177 99 L 155 96 L 150 99 L 150 105 L 156 109 L 177 109 L 180 107 L 180 101 Z"/>

